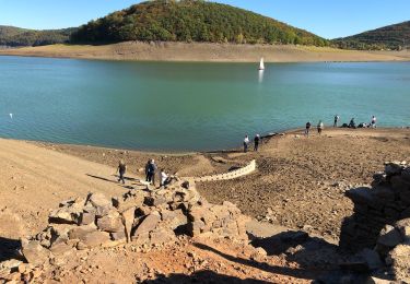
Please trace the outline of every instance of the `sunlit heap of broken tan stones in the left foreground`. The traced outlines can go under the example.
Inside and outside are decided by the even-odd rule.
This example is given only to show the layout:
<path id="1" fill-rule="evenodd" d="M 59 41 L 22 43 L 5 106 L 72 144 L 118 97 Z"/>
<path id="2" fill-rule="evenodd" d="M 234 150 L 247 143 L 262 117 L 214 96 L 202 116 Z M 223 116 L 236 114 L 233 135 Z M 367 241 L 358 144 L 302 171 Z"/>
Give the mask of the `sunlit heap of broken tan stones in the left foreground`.
<path id="1" fill-rule="evenodd" d="M 183 187 L 184 186 L 184 187 Z M 22 240 L 22 252 L 42 265 L 72 250 L 136 246 L 163 246 L 178 235 L 201 235 L 247 240 L 248 217 L 236 205 L 208 203 L 188 184 L 160 190 L 132 190 L 112 200 L 102 193 L 61 202 L 49 215 L 45 230 Z"/>

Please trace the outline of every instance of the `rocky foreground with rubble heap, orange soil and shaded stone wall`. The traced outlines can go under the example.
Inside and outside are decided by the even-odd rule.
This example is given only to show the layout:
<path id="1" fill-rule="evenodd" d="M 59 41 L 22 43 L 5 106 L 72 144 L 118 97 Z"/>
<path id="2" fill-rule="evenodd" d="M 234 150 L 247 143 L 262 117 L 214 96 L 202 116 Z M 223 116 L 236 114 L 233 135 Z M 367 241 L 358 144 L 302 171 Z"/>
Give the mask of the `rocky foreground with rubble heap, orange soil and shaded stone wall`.
<path id="1" fill-rule="evenodd" d="M 268 225 L 255 223 L 230 202 L 209 203 L 187 181 L 166 189 L 131 190 L 110 200 L 89 193 L 61 202 L 43 232 L 10 250 L 9 259 L 0 263 L 0 279 L 4 283 L 409 282 L 409 192 L 410 166 L 405 162 L 386 163 L 372 188 L 350 190 L 348 194 L 361 198 L 356 215 L 342 227 L 341 245 L 349 247 L 344 250 L 285 228 L 261 236 Z M 377 206 L 378 215 L 365 213 L 364 206 L 367 212 Z M 365 214 L 386 222 L 376 236 L 376 226 L 361 217 Z"/>

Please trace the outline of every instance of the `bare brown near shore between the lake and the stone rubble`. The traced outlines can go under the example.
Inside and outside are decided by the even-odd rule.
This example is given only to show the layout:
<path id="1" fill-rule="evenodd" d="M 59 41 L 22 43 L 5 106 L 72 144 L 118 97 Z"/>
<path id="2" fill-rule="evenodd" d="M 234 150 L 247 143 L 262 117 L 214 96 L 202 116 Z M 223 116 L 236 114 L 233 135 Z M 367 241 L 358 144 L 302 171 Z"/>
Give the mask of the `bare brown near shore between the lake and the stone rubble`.
<path id="1" fill-rule="evenodd" d="M 126 161 L 127 175 L 141 178 L 149 158 L 180 177 L 226 173 L 256 159 L 257 170 L 251 175 L 200 182 L 198 190 L 210 202 L 231 201 L 253 217 L 270 209 L 277 225 L 297 228 L 308 224 L 313 233 L 337 240 L 340 222 L 352 212 L 351 201 L 343 194 L 345 188 L 370 182 L 386 161 L 409 161 L 410 129 L 327 128 L 323 135 L 313 129 L 308 139 L 302 129 L 293 129 L 262 141 L 259 152 L 233 149 L 183 155 L 0 139 L 0 166 L 5 169 L 0 173 L 0 188 L 4 189 L 0 203 L 26 212 L 26 217 L 38 211 L 44 220 L 48 208 L 79 190 L 125 190 L 114 176 L 119 159 Z M 37 192 L 45 185 L 48 193 Z M 34 222 L 30 226 L 33 232 L 44 225 L 37 218 L 30 222 Z"/>

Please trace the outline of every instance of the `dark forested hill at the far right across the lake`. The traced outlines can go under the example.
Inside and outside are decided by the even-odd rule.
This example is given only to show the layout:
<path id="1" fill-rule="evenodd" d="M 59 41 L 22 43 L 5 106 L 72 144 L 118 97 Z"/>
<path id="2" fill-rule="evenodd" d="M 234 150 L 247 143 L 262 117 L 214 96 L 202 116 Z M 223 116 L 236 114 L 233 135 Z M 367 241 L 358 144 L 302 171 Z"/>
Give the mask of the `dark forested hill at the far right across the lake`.
<path id="1" fill-rule="evenodd" d="M 410 21 L 389 25 L 332 40 L 335 45 L 347 49 L 394 49 L 401 50 L 410 47 Z"/>

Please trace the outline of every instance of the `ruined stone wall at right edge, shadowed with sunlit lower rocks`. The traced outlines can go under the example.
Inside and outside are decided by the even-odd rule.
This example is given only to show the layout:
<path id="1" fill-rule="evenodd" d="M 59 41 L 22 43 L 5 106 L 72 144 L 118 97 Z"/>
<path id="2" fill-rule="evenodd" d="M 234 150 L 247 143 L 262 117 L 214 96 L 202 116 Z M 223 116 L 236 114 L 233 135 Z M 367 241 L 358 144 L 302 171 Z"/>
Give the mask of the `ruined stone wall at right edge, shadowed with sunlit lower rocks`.
<path id="1" fill-rule="evenodd" d="M 385 163 L 372 188 L 347 194 L 354 214 L 343 222 L 340 246 L 362 249 L 370 269 L 387 264 L 397 280 L 410 281 L 410 165 Z"/>

